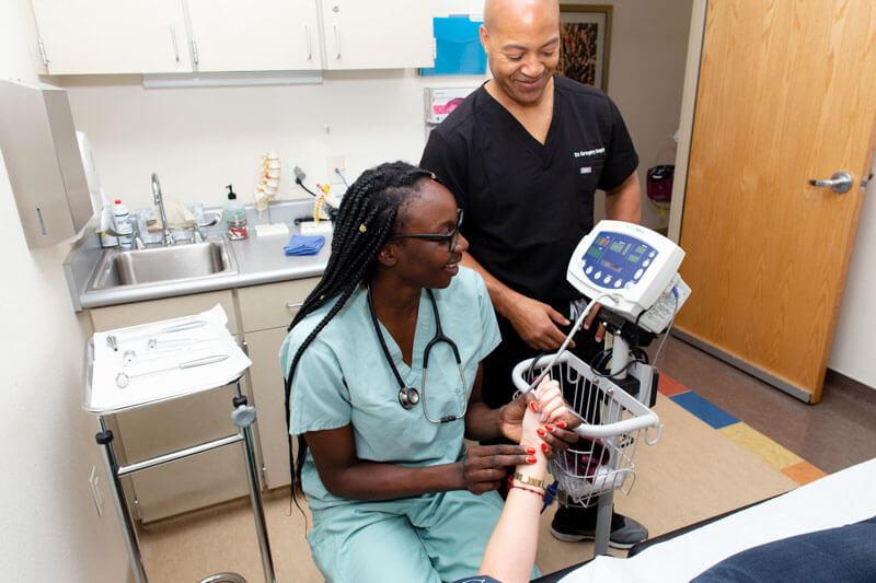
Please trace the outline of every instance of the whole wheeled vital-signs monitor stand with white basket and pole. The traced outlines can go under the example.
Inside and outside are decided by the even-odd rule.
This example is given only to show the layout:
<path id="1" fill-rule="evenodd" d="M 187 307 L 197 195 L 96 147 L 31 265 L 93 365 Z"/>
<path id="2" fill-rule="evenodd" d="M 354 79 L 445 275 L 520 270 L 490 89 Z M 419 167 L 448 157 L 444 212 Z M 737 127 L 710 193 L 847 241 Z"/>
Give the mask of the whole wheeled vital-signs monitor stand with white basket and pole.
<path id="1" fill-rule="evenodd" d="M 658 373 L 639 343 L 661 333 L 668 336 L 690 295 L 678 275 L 683 257 L 678 245 L 654 231 L 601 221 L 578 243 L 566 272 L 568 282 L 591 300 L 556 353 L 520 362 L 511 373 L 521 393 L 534 389 L 545 376 L 557 381 L 581 421 L 575 428 L 577 444 L 557 452 L 549 469 L 561 503 L 598 504 L 595 555 L 608 552 L 614 490 L 632 489 L 638 444 L 654 445 L 660 439 L 660 420 L 649 409 L 656 401 Z M 586 363 L 565 349 L 597 303 L 598 320 L 612 345 Z"/>

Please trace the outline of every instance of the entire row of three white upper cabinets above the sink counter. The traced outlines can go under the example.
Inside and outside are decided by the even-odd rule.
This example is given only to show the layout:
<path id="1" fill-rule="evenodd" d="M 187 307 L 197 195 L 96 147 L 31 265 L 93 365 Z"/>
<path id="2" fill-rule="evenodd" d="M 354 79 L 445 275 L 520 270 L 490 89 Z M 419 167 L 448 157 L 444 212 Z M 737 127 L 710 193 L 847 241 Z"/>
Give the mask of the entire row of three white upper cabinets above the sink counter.
<path id="1" fill-rule="evenodd" d="M 434 63 L 429 2 L 32 0 L 32 4 L 48 74 L 393 69 Z"/>

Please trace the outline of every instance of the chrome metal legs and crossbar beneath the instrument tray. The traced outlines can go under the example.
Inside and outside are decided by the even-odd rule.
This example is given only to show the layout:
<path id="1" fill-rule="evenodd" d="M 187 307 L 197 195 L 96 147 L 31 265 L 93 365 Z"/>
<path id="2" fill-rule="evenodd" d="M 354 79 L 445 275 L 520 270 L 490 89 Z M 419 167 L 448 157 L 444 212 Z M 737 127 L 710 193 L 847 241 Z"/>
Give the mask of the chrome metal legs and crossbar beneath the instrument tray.
<path id="1" fill-rule="evenodd" d="M 268 543 L 267 526 L 265 524 L 265 512 L 262 504 L 262 490 L 258 482 L 258 466 L 255 457 L 255 442 L 253 439 L 253 422 L 255 421 L 255 407 L 247 405 L 246 397 L 241 393 L 240 377 L 232 381 L 234 385 L 234 397 L 232 399 L 233 410 L 231 411 L 231 420 L 238 428 L 238 433 L 220 438 L 207 443 L 193 445 L 175 452 L 170 452 L 140 462 L 134 462 L 125 466 L 119 466 L 116 453 L 113 447 L 114 435 L 113 432 L 106 429 L 106 421 L 104 416 L 99 415 L 97 421 L 101 431 L 94 436 L 97 445 L 101 446 L 101 453 L 106 465 L 106 471 L 110 476 L 110 488 L 113 492 L 113 500 L 115 502 L 116 512 L 122 521 L 122 529 L 125 536 L 125 544 L 128 549 L 128 557 L 130 560 L 130 568 L 134 571 L 135 580 L 137 583 L 147 583 L 146 570 L 143 569 L 142 557 L 140 555 L 140 547 L 137 541 L 137 533 L 135 530 L 134 518 L 130 514 L 127 500 L 125 499 L 125 491 L 122 488 L 122 478 L 137 471 L 168 464 L 176 459 L 183 459 L 193 455 L 197 455 L 234 443 L 243 443 L 243 452 L 246 458 L 246 477 L 250 482 L 250 502 L 253 506 L 253 514 L 255 517 L 255 530 L 258 535 L 258 550 L 262 555 L 262 569 L 265 573 L 265 581 L 267 583 L 275 583 L 276 576 L 274 574 L 274 562 L 270 558 L 270 545 Z"/>

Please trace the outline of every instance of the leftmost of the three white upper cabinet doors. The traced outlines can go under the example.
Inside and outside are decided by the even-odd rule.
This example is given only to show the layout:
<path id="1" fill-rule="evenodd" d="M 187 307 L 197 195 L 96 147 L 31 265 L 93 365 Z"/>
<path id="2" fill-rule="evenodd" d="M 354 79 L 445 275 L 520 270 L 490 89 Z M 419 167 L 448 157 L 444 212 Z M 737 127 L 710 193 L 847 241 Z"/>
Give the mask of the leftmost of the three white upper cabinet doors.
<path id="1" fill-rule="evenodd" d="M 180 0 L 32 0 L 49 74 L 192 70 Z"/>

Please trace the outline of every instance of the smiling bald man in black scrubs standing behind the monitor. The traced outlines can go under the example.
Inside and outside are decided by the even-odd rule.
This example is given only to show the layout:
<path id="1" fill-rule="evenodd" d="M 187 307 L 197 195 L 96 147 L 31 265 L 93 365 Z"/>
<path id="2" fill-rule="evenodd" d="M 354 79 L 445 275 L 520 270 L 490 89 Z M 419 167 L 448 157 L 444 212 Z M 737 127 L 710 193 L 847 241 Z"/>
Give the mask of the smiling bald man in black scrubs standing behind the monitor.
<path id="1" fill-rule="evenodd" d="M 434 172 L 465 210 L 463 265 L 486 281 L 503 342 L 484 361 L 484 400 L 514 395 L 515 364 L 555 350 L 579 298 L 566 281 L 575 245 L 593 226 L 593 196 L 606 191 L 610 219 L 639 222 L 638 156 L 614 103 L 602 92 L 554 77 L 560 58 L 556 0 L 486 0 L 481 42 L 493 79 L 429 136 L 420 166 Z M 603 330 L 575 338 L 585 361 L 601 350 Z M 593 538 L 596 509 L 560 509 L 551 532 L 561 540 Z M 615 514 L 610 544 L 647 538 Z"/>

